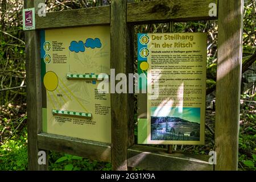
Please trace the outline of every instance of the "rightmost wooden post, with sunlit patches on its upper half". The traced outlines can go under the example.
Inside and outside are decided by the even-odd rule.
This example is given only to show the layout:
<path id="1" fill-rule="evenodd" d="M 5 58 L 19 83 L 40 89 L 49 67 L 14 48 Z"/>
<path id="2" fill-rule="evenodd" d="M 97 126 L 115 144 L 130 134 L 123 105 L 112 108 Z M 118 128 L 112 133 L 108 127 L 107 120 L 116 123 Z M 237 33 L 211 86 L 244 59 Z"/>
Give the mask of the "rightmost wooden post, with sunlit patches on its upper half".
<path id="1" fill-rule="evenodd" d="M 243 0 L 218 1 L 215 145 L 217 170 L 237 170 Z"/>

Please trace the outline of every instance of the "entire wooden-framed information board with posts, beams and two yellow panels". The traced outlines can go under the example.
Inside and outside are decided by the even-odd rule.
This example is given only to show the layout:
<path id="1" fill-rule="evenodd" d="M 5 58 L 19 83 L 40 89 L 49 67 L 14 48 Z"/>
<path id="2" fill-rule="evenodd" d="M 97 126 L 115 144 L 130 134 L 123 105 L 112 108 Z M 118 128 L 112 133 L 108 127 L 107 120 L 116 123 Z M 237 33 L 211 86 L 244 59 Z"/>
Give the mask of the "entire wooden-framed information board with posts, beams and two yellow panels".
<path id="1" fill-rule="evenodd" d="M 38 7 L 40 7 L 38 6 L 39 3 L 45 2 L 44 0 L 24 0 L 24 9 L 26 9 L 24 12 L 27 14 L 24 14 L 23 23 L 24 26 L 30 30 L 25 31 L 28 168 L 30 170 L 48 169 L 48 160 L 46 160 L 46 164 L 39 164 L 38 154 L 42 151 L 46 152 L 47 154 L 47 151 L 49 150 L 65 152 L 72 155 L 79 155 L 93 160 L 111 162 L 113 170 L 127 170 L 134 167 L 147 170 L 175 171 L 188 169 L 237 169 L 242 62 L 243 0 L 154 0 L 144 2 L 129 1 L 129 3 L 128 1 L 113 0 L 111 1 L 111 6 L 109 5 L 77 10 L 49 12 L 46 13 L 46 16 L 38 16 Z M 33 11 L 34 9 L 35 11 Z M 212 16 L 210 13 L 212 11 L 218 12 L 217 16 Z M 33 13 L 35 13 L 35 16 Z M 186 154 L 182 151 L 175 151 L 172 154 L 168 154 L 164 148 L 135 144 L 134 138 L 136 136 L 134 135 L 133 94 L 111 94 L 111 108 L 109 112 L 111 113 L 110 120 L 108 118 L 110 117 L 108 114 L 101 115 L 98 112 L 96 113 L 96 109 L 93 108 L 96 108 L 96 105 L 98 104 L 103 105 L 103 103 L 105 103 L 104 105 L 109 107 L 109 97 L 97 96 L 96 99 L 95 92 L 93 93 L 93 88 L 98 83 L 97 81 L 96 84 L 95 82 L 93 83 L 92 78 L 96 78 L 96 75 L 101 72 L 101 68 L 98 68 L 97 71 L 94 71 L 94 68 L 98 67 L 98 65 L 105 65 L 105 63 L 109 63 L 109 68 L 115 69 L 115 73 L 117 74 L 125 73 L 125 75 L 128 76 L 129 73 L 134 73 L 134 25 L 216 19 L 218 19 L 218 61 L 216 80 L 216 127 L 214 130 L 214 150 L 217 154 L 217 164 L 214 168 L 211 164 L 209 164 L 209 156 L 207 155 L 192 155 Z M 31 20 L 34 21 L 34 23 L 31 24 Z M 103 28 L 105 26 L 110 27 L 109 30 L 107 30 L 108 28 Z M 24 30 L 26 30 L 26 28 Z M 58 30 L 56 28 L 58 28 Z M 42 30 L 45 30 L 45 39 L 40 41 L 40 38 L 42 39 L 43 34 Z M 71 34 L 67 34 L 68 31 Z M 51 32 L 55 32 L 54 36 Z M 169 34 L 167 34 L 167 36 L 168 35 Z M 51 39 L 48 39 L 48 36 L 51 37 Z M 150 38 L 151 35 L 148 34 L 148 36 Z M 197 43 L 196 37 L 197 36 L 195 36 L 194 39 Z M 94 41 L 97 41 L 96 38 L 101 40 L 101 48 L 95 47 L 93 49 L 92 47 L 88 48 L 85 45 L 85 48 L 79 49 L 82 44 L 86 43 L 87 39 L 93 39 Z M 202 40 L 202 42 L 205 42 L 204 39 Z M 166 43 L 168 43 L 168 46 L 166 44 L 166 48 L 171 49 L 170 51 L 174 51 L 172 49 L 176 49 L 171 47 L 172 41 L 174 41 L 172 38 L 170 41 L 166 41 Z M 163 45 L 163 42 L 160 40 L 160 38 L 159 40 L 156 38 L 154 42 L 156 43 L 156 47 L 155 44 L 148 44 L 149 47 L 147 48 L 149 53 L 150 49 L 156 49 L 155 51 L 157 51 L 159 47 L 158 44 L 160 44 L 160 47 Z M 76 44 L 76 46 L 70 50 L 69 47 L 72 47 L 73 44 Z M 186 44 L 187 43 L 185 43 L 185 47 L 187 47 Z M 181 49 L 190 49 L 184 48 L 182 46 L 184 43 L 180 45 L 181 46 L 178 48 L 180 51 Z M 42 52 L 40 53 L 40 47 L 43 47 L 43 49 L 45 47 L 46 52 L 43 54 Z M 53 51 L 53 47 L 55 47 L 55 51 L 51 52 Z M 41 48 L 41 50 L 43 49 Z M 85 51 L 82 52 L 84 49 Z M 100 51 L 100 49 L 102 49 L 101 56 L 104 55 L 104 52 L 109 52 L 110 59 L 108 56 L 96 59 L 96 52 Z M 197 48 L 196 51 L 205 51 L 205 49 L 206 48 L 204 44 L 201 45 L 200 48 Z M 88 53 L 92 60 L 96 60 L 93 62 L 90 68 L 86 67 L 86 65 L 82 65 L 80 62 L 85 60 L 85 57 L 88 55 Z M 154 53 L 154 55 L 155 54 L 158 53 Z M 195 53 L 195 55 L 196 54 L 197 53 Z M 195 84 L 202 85 L 201 88 L 204 88 L 204 52 L 200 52 L 198 54 L 203 56 L 202 59 L 200 58 L 200 60 L 203 61 L 201 61 L 201 63 L 199 61 L 199 63 L 195 63 L 195 65 L 202 66 L 200 70 L 203 71 L 203 73 L 200 73 L 201 76 L 199 76 L 202 78 L 201 81 L 198 80 L 195 82 Z M 147 55 L 146 50 L 142 51 L 142 56 L 144 55 Z M 161 55 L 164 54 L 161 53 Z M 170 56 L 170 53 L 166 53 L 166 55 Z M 180 55 L 180 53 L 176 53 L 176 55 Z M 148 56 L 153 55 L 149 54 Z M 70 60 L 70 58 L 72 58 L 72 60 Z M 151 69 L 159 66 L 158 64 L 154 63 L 152 57 L 151 59 L 149 58 L 147 64 L 142 64 L 143 71 L 147 71 L 147 73 L 151 71 Z M 65 63 L 65 60 L 67 63 Z M 173 58 L 172 60 L 176 59 Z M 55 62 L 54 64 L 53 61 Z M 69 61 L 71 63 L 70 68 Z M 145 61 L 139 60 L 139 69 L 141 68 L 140 65 L 142 62 Z M 45 67 L 42 67 L 42 64 L 45 65 Z M 75 65 L 77 68 L 72 67 L 72 65 Z M 170 63 L 170 65 L 174 66 L 175 63 Z M 83 67 L 83 70 L 85 71 L 80 72 L 80 66 Z M 59 68 L 57 69 L 57 67 Z M 106 65 L 106 67 L 108 66 Z M 164 67 L 164 69 L 161 68 L 161 70 L 170 72 L 171 68 Z M 187 68 L 185 68 L 185 70 L 187 70 Z M 193 68 L 192 71 L 198 70 Z M 140 70 L 139 72 L 142 73 Z M 186 72 L 188 72 L 188 70 Z M 106 71 L 106 73 L 108 73 L 108 71 Z M 55 81 L 51 81 L 56 83 L 57 80 L 57 85 L 62 86 L 57 86 L 55 89 L 56 84 L 48 85 L 47 81 L 44 82 L 45 76 L 46 80 L 55 78 Z M 186 75 L 184 77 L 197 78 L 195 75 L 188 77 Z M 146 78 L 148 77 L 146 76 Z M 166 77 L 163 78 L 166 79 Z M 183 77 L 180 78 L 182 81 Z M 60 80 L 65 84 L 65 86 L 67 86 L 68 89 L 65 88 L 64 84 L 62 84 Z M 191 84 L 191 81 L 192 80 L 184 80 L 183 88 L 185 88 L 185 85 Z M 166 82 L 167 86 L 174 84 L 171 80 Z M 44 85 L 45 83 L 46 85 Z M 181 85 L 181 82 L 176 80 L 175 84 Z M 85 88 L 85 85 L 86 88 L 87 86 L 90 88 L 88 89 L 87 93 L 84 92 L 84 89 L 81 89 Z M 146 82 L 145 85 L 148 86 L 148 83 Z M 46 87 L 48 88 L 48 91 L 46 91 Z M 61 88 L 64 91 L 61 90 Z M 150 87 L 148 88 L 150 89 Z M 191 88 L 193 87 L 191 86 Z M 69 92 L 69 90 L 72 94 L 66 94 Z M 205 90 L 201 89 L 201 91 L 203 95 Z M 47 92 L 49 96 L 47 96 Z M 90 94 L 91 100 L 88 100 L 86 97 L 87 94 Z M 71 99 L 69 99 L 67 95 L 69 95 Z M 141 102 L 142 98 L 145 98 L 145 95 L 145 101 L 147 101 L 147 103 Z M 106 100 L 98 100 L 100 97 L 106 98 Z M 183 98 L 184 97 L 185 94 Z M 51 104 L 50 98 L 56 102 L 52 102 Z M 163 98 L 166 97 L 163 95 Z M 175 101 L 177 98 L 178 97 L 175 97 L 175 99 L 170 98 L 170 100 Z M 200 108 L 200 141 L 193 141 L 198 142 L 197 144 L 203 143 L 203 140 L 201 140 L 201 137 L 203 137 L 203 135 L 201 135 L 201 132 L 203 131 L 203 122 L 201 122 L 201 118 L 204 117 L 203 100 L 203 97 L 196 99 L 195 101 L 201 104 L 193 104 L 191 106 L 184 106 L 184 104 L 186 104 L 185 102 L 182 104 L 183 107 L 179 107 L 177 104 L 175 106 L 175 102 L 172 106 L 168 106 L 169 110 L 170 108 L 174 107 L 177 108 L 177 111 L 179 111 L 179 109 L 181 111 L 182 108 L 182 113 L 184 113 L 184 110 L 186 110 L 185 108 L 187 107 Z M 148 125 L 148 123 L 151 119 L 151 113 L 156 113 L 155 110 L 152 110 L 151 112 L 151 107 L 155 105 L 155 101 L 156 106 L 158 107 L 158 100 L 151 100 L 148 102 L 147 94 L 140 94 L 138 97 L 138 119 L 146 119 L 146 132 L 149 135 L 151 130 L 148 130 L 148 126 L 151 126 Z M 199 111 L 197 111 L 197 113 L 199 113 Z M 97 119 L 97 115 L 101 115 L 101 117 Z M 156 114 L 156 116 L 158 116 L 158 114 Z M 166 117 L 167 114 L 160 114 L 159 116 Z M 57 117 L 64 118 L 66 121 L 62 122 L 60 119 L 59 121 L 56 121 Z M 67 118 L 72 118 L 72 122 L 67 121 L 69 120 Z M 197 119 L 197 121 L 199 121 L 199 119 Z M 98 128 L 96 129 L 96 127 L 93 127 L 93 125 L 88 125 L 89 122 L 95 123 L 94 126 L 98 125 Z M 84 125 L 80 125 L 80 123 L 84 123 Z M 169 123 L 167 118 L 167 134 L 170 134 L 168 132 L 170 129 Z M 87 135 L 88 133 L 82 129 L 82 127 L 85 125 L 91 127 L 92 131 L 86 131 L 93 134 L 93 136 Z M 141 125 L 140 121 L 139 125 Z M 50 129 L 50 127 L 52 127 L 52 129 Z M 102 130 L 103 128 L 104 130 Z M 164 129 L 164 127 L 161 128 Z M 106 133 L 101 134 L 101 131 L 106 131 Z M 184 137 L 190 137 L 191 133 L 187 133 L 186 136 L 184 135 Z M 67 135 L 75 137 L 68 137 Z M 103 135 L 105 135 L 106 139 L 101 138 Z M 141 142 L 139 143 L 148 143 L 147 140 L 143 139 L 143 136 L 138 137 L 141 138 Z M 167 143 L 169 143 L 169 141 L 171 141 L 170 143 L 175 143 L 175 141 L 176 143 L 189 142 L 188 140 L 185 140 L 185 138 L 184 140 L 173 140 L 174 137 L 176 137 L 176 134 L 172 135 L 172 137 L 172 140 L 168 138 L 168 140 L 161 139 L 158 141 L 168 141 Z M 110 142 L 110 138 L 111 143 L 106 143 Z M 146 138 L 148 138 L 147 135 Z"/>

